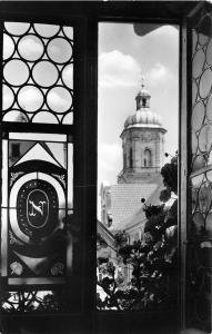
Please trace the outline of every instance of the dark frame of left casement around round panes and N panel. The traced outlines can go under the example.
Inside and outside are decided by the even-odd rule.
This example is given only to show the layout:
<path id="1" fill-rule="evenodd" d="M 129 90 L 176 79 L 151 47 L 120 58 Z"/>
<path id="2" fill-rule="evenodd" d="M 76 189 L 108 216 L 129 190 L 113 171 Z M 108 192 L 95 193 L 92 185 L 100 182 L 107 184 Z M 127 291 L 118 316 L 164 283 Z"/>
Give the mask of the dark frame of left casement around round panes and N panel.
<path id="1" fill-rule="evenodd" d="M 22 124 L 17 121 L 2 121 L 0 124 L 0 131 L 1 134 L 6 132 L 43 132 L 43 134 L 64 134 L 67 136 L 73 137 L 73 216 L 78 216 L 78 222 L 81 223 L 81 240 L 80 240 L 80 249 L 79 245 L 77 246 L 75 252 L 80 252 L 81 254 L 84 253 L 84 215 L 81 210 L 81 203 L 83 203 L 83 198 L 85 196 L 84 188 L 81 186 L 85 184 L 85 167 L 81 164 L 81 160 L 83 159 L 83 151 L 84 151 L 84 136 L 85 134 L 80 131 L 81 126 L 83 125 L 83 115 L 85 114 L 85 100 L 84 98 L 84 91 L 85 91 L 85 81 L 82 80 L 82 78 L 87 78 L 85 73 L 85 36 L 83 32 L 85 31 L 85 19 L 81 14 L 81 17 L 77 18 L 75 16 L 70 17 L 65 12 L 61 13 L 59 18 L 57 18 L 53 13 L 49 13 L 49 10 L 43 11 L 42 16 L 39 14 L 40 9 L 38 4 L 30 6 L 30 10 L 24 10 L 24 6 L 18 3 L 18 11 L 12 10 L 10 8 L 11 4 L 4 6 L 3 3 L 0 3 L 0 8 L 3 8 L 0 12 L 0 29 L 2 31 L 2 23 L 4 21 L 14 21 L 14 22 L 34 22 L 34 23 L 49 23 L 49 24 L 61 24 L 61 26 L 73 26 L 74 29 L 74 48 L 73 48 L 73 59 L 74 59 L 74 78 L 73 78 L 73 87 L 74 87 L 74 98 L 73 98 L 73 109 L 74 109 L 74 120 L 73 125 L 54 125 L 54 124 Z M 8 9 L 10 8 L 10 9 Z M 19 12 L 21 11 L 21 13 Z M 0 51 L 2 55 L 2 46 L 3 46 L 3 35 L 1 33 L 0 37 Z M 78 56 L 78 57 L 77 57 Z M 80 57 L 79 57 L 80 56 Z M 2 78 L 2 67 L 0 70 L 0 76 Z M 0 94 L 0 102 L 2 102 L 2 95 Z M 82 137 L 82 140 L 79 139 L 79 137 Z M 0 148 L 0 157 L 2 157 L 2 147 Z M 0 161 L 0 167 L 2 164 L 2 159 Z M 83 262 L 83 256 L 80 256 L 79 261 L 73 259 L 73 271 L 75 272 L 75 275 L 79 273 L 79 267 L 81 268 L 81 272 L 84 272 L 85 263 Z M 79 310 L 79 312 L 82 312 L 83 310 L 83 303 L 82 303 L 82 296 L 83 296 L 83 282 L 82 277 L 84 275 L 80 275 L 78 279 L 71 276 L 68 277 L 65 287 L 73 289 L 73 301 L 75 301 L 75 310 Z M 1 286 L 3 291 L 12 291 L 16 289 L 16 287 L 8 286 L 4 278 L 1 277 Z M 46 289 L 54 289 L 52 285 L 44 286 Z M 58 289 L 63 288 L 63 286 L 58 286 Z M 33 286 L 26 287 L 26 291 L 33 289 Z M 34 289 L 43 289 L 43 286 L 34 286 Z M 19 287 L 19 291 L 23 291 L 23 288 Z M 77 296 L 75 291 L 79 292 L 79 296 Z M 17 315 L 16 315 L 17 316 Z M 48 314 L 47 314 L 48 316 Z M 19 315 L 18 315 L 19 317 Z M 21 315 L 20 315 L 21 317 Z M 34 317 L 34 315 L 32 316 Z M 10 316 L 2 315 L 2 318 L 10 318 Z"/>

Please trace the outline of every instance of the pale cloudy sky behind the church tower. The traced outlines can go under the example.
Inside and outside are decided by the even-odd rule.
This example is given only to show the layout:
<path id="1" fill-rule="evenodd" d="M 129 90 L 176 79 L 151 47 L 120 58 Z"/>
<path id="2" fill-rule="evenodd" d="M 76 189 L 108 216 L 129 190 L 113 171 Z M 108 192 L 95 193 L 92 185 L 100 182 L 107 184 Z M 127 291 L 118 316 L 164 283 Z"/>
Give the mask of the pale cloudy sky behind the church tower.
<path id="1" fill-rule="evenodd" d="M 142 78 L 151 95 L 150 110 L 160 115 L 165 151 L 178 149 L 179 30 L 163 26 L 144 37 L 131 23 L 99 24 L 98 186 L 117 184 L 122 169 L 120 135 L 135 114 Z M 165 158 L 164 158 L 165 163 Z M 98 189 L 98 191 L 99 191 Z"/>

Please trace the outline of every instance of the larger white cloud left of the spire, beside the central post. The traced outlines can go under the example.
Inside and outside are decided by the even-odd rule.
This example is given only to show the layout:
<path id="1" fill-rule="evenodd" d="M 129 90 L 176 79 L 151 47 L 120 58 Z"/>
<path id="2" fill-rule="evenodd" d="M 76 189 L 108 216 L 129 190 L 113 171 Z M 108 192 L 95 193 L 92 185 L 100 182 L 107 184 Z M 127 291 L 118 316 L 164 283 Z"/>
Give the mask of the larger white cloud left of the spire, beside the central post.
<path id="1" fill-rule="evenodd" d="M 132 56 L 118 50 L 99 57 L 99 86 L 103 88 L 135 87 L 141 68 Z"/>

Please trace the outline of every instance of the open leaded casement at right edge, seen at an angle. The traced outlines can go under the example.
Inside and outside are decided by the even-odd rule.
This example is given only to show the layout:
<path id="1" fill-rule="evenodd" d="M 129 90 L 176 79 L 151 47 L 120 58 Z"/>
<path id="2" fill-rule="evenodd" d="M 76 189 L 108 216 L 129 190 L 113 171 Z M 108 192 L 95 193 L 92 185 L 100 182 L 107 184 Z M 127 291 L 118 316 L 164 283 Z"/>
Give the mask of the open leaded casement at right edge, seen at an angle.
<path id="1" fill-rule="evenodd" d="M 188 218 L 186 326 L 210 332 L 212 282 L 212 12 L 190 20 L 192 50 Z M 189 82 L 190 84 L 190 82 Z"/>

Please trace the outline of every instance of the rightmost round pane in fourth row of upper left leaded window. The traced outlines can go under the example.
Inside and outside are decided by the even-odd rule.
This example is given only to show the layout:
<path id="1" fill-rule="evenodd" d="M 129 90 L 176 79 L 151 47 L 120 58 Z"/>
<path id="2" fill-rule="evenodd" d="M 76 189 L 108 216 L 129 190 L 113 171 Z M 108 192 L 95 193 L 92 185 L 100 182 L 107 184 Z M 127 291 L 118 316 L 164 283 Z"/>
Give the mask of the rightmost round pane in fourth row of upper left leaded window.
<path id="1" fill-rule="evenodd" d="M 47 102 L 51 110 L 64 112 L 71 108 L 72 97 L 67 88 L 54 87 L 48 92 Z"/>

